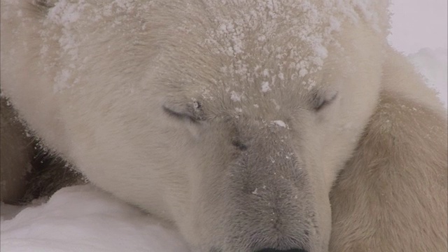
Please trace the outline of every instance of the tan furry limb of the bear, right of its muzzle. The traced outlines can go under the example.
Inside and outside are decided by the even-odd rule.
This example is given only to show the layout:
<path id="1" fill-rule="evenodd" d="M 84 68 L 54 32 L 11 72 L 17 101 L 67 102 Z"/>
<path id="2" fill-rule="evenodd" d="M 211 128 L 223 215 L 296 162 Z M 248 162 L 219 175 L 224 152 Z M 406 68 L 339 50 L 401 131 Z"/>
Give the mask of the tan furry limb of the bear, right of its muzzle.
<path id="1" fill-rule="evenodd" d="M 447 111 L 397 52 L 389 52 L 381 84 L 330 193 L 330 251 L 446 251 Z"/>

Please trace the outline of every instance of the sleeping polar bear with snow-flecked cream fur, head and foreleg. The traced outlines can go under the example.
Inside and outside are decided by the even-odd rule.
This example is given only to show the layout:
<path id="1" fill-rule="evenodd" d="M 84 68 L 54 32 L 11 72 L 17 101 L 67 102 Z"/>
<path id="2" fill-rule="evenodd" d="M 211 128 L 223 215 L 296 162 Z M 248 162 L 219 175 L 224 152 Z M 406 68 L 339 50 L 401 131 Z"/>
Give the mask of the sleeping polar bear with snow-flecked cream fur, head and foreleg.
<path id="1" fill-rule="evenodd" d="M 1 0 L 2 92 L 192 251 L 446 251 L 446 111 L 387 2 Z"/>

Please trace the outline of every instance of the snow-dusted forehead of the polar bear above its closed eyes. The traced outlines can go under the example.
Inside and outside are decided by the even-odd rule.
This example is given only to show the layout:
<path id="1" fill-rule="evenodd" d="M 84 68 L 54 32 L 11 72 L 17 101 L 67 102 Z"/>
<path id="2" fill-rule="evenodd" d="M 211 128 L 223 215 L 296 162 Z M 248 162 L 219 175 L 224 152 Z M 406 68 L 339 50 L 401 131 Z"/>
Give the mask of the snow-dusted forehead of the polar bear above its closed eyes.
<path id="1" fill-rule="evenodd" d="M 174 41 L 179 46 L 170 53 L 179 51 L 169 55 L 169 66 L 190 99 L 228 110 L 279 110 L 317 88 L 331 32 L 337 29 L 331 19 L 334 4 L 321 8 L 309 1 L 268 2 L 260 1 L 254 9 L 249 1 L 228 1 L 233 10 L 240 7 L 228 13 L 223 3 L 204 1 L 211 20 L 179 25 Z"/>

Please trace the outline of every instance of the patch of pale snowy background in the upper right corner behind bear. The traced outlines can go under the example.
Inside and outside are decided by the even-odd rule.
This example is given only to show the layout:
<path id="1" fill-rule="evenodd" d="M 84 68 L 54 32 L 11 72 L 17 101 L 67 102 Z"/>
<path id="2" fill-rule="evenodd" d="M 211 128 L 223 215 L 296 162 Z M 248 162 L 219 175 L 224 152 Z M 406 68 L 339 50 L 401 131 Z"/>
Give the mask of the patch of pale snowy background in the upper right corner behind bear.
<path id="1" fill-rule="evenodd" d="M 393 0 L 389 43 L 409 56 L 430 87 L 439 91 L 447 106 L 448 96 L 448 1 Z"/>

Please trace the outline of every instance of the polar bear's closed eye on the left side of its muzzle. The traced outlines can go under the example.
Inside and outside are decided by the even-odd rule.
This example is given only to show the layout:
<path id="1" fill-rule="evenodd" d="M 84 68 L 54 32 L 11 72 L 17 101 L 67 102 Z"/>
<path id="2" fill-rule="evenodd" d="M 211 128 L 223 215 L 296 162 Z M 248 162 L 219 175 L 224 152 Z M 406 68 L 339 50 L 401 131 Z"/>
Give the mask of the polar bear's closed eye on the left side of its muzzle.
<path id="1" fill-rule="evenodd" d="M 193 123 L 205 120 L 204 111 L 202 110 L 202 102 L 196 99 L 173 99 L 167 98 L 162 105 L 163 111 L 169 116 L 179 119 L 188 119 Z"/>

